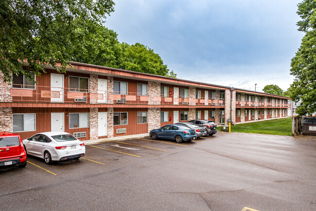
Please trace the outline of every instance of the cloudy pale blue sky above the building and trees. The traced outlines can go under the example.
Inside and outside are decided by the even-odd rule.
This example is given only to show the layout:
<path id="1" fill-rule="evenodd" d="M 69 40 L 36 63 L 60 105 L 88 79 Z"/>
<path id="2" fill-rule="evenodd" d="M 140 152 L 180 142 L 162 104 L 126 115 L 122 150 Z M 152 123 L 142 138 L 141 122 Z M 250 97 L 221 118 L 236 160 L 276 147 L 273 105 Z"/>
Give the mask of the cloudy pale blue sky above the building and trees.
<path id="1" fill-rule="evenodd" d="M 114 1 L 105 26 L 152 48 L 178 78 L 257 91 L 293 81 L 301 0 Z"/>

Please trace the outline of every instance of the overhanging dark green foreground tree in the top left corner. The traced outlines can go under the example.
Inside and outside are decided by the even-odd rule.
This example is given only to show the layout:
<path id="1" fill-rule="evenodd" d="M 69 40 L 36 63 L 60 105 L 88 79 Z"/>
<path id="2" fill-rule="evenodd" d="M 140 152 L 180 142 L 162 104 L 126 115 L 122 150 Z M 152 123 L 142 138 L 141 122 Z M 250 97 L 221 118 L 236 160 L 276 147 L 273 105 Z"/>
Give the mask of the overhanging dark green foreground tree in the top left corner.
<path id="1" fill-rule="evenodd" d="M 5 81 L 13 74 L 33 79 L 45 73 L 44 65 L 62 71 L 70 65 L 72 43 L 81 42 L 77 32 L 91 23 L 104 22 L 114 11 L 112 0 L 1 0 L 0 70 Z M 30 67 L 22 69 L 20 62 Z M 58 71 L 58 70 L 57 70 Z"/>

